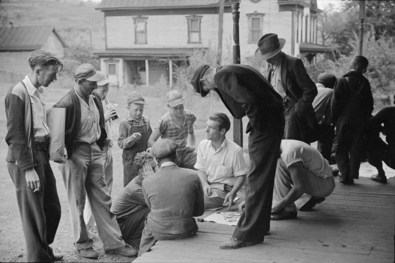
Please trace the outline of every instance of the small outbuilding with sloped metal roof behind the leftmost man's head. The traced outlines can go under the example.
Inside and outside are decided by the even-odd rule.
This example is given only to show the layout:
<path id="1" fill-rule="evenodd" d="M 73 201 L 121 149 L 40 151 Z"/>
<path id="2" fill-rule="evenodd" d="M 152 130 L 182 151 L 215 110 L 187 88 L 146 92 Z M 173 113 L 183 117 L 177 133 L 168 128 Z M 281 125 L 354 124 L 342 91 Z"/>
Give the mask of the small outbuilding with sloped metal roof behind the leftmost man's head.
<path id="1" fill-rule="evenodd" d="M 25 75 L 33 50 L 46 49 L 63 58 L 66 47 L 53 26 L 0 27 L 0 72 Z"/>

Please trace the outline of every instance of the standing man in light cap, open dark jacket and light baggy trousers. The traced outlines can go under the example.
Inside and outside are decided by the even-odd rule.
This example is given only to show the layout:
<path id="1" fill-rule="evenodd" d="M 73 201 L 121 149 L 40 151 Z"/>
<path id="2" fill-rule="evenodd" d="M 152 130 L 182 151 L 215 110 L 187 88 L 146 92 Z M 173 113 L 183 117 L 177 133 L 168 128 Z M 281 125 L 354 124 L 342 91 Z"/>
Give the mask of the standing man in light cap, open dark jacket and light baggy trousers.
<path id="1" fill-rule="evenodd" d="M 54 108 L 66 108 L 67 156 L 58 168 L 67 191 L 74 246 L 87 258 L 98 257 L 98 254 L 92 248 L 93 239 L 84 221 L 86 197 L 105 253 L 137 254 L 137 250 L 126 246 L 122 239 L 116 216 L 110 211 L 111 197 L 104 179 L 103 146 L 107 134 L 100 95 L 94 91 L 104 76 L 91 64 L 79 65 L 74 71 L 73 88 L 54 105 Z"/>

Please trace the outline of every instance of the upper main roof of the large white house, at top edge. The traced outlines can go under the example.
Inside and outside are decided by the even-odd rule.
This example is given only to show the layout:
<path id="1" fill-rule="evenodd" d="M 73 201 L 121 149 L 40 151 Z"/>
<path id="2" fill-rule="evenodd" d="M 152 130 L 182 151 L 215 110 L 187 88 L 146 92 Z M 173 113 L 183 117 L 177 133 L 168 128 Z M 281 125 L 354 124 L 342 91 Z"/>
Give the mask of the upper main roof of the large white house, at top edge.
<path id="1" fill-rule="evenodd" d="M 219 0 L 102 0 L 97 10 L 216 6 Z M 229 1 L 226 1 L 228 4 Z"/>

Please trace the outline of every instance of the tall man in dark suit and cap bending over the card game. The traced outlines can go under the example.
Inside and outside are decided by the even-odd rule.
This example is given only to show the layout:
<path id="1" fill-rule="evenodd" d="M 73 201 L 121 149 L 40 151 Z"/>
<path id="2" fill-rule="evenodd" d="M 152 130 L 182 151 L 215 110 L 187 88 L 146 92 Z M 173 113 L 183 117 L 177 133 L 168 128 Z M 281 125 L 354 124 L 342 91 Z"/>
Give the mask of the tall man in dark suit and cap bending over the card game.
<path id="1" fill-rule="evenodd" d="M 284 133 L 282 98 L 259 71 L 247 65 L 200 65 L 191 84 L 202 97 L 216 91 L 234 118 L 248 116 L 249 120 L 246 206 L 233 237 L 219 245 L 234 249 L 263 242 L 270 229 L 276 164 Z"/>

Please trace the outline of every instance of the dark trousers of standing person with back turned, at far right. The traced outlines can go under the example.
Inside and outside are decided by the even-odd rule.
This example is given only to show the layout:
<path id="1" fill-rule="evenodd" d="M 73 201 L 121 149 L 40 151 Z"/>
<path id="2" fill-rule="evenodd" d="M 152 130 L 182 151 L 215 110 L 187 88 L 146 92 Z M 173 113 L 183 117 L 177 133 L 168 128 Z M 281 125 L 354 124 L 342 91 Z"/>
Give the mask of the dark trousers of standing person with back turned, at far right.
<path id="1" fill-rule="evenodd" d="M 336 133 L 337 167 L 345 178 L 357 179 L 359 178 L 359 167 L 361 166 L 361 155 L 364 144 L 364 125 L 338 121 Z"/>

